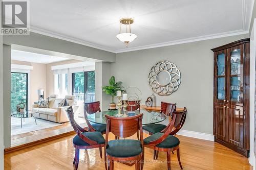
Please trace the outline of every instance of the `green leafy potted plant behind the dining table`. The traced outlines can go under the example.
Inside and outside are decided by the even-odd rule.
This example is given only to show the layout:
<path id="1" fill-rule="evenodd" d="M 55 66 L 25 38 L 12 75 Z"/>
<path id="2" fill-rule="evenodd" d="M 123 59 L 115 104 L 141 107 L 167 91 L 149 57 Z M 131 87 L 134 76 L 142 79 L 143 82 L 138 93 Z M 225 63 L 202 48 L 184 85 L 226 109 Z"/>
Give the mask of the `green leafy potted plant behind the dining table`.
<path id="1" fill-rule="evenodd" d="M 110 105 L 110 109 L 116 109 L 116 103 L 114 103 L 114 96 L 116 96 L 116 91 L 118 90 L 122 90 L 123 86 L 122 86 L 122 82 L 115 82 L 115 77 L 112 76 L 109 80 L 109 86 L 103 86 L 102 90 L 108 94 L 111 95 L 111 103 Z"/>

